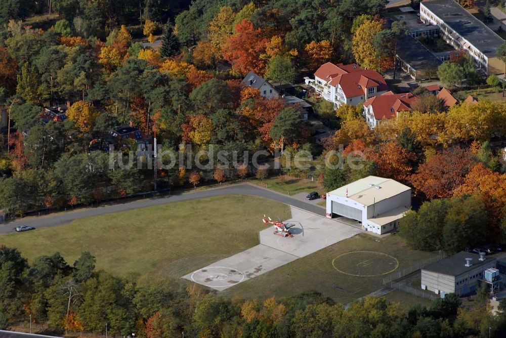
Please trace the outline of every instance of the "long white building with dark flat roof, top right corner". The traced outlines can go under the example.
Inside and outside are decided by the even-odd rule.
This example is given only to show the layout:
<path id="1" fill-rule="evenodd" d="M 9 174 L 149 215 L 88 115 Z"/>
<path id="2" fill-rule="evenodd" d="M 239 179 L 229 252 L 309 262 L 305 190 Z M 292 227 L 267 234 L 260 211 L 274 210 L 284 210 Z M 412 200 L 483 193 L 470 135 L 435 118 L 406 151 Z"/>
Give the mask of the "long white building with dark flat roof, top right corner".
<path id="1" fill-rule="evenodd" d="M 504 71 L 504 62 L 496 56 L 504 40 L 453 0 L 420 3 L 420 19 L 426 24 L 439 26 L 443 39 L 454 49 L 471 55 L 477 67 L 485 73 Z"/>

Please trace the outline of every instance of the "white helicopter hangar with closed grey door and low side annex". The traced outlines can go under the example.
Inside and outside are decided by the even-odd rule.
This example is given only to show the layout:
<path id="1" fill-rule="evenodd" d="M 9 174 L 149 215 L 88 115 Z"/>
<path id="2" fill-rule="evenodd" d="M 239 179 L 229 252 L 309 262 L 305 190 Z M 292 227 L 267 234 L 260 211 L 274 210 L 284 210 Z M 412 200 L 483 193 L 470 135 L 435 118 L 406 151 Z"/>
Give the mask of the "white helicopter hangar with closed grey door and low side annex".
<path id="1" fill-rule="evenodd" d="M 347 217 L 376 234 L 397 229 L 411 207 L 411 188 L 392 179 L 368 176 L 327 193 L 326 216 Z"/>

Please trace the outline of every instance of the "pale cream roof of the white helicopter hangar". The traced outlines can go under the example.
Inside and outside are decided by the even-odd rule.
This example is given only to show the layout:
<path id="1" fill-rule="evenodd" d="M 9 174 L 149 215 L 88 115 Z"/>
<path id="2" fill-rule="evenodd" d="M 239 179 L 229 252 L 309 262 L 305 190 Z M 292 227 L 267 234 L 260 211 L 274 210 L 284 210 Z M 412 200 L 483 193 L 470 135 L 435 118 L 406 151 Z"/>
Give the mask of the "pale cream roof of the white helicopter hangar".
<path id="1" fill-rule="evenodd" d="M 356 202 L 369 206 L 408 190 L 411 190 L 411 188 L 395 180 L 368 176 L 344 185 L 341 188 L 332 190 L 328 194 L 348 197 Z"/>

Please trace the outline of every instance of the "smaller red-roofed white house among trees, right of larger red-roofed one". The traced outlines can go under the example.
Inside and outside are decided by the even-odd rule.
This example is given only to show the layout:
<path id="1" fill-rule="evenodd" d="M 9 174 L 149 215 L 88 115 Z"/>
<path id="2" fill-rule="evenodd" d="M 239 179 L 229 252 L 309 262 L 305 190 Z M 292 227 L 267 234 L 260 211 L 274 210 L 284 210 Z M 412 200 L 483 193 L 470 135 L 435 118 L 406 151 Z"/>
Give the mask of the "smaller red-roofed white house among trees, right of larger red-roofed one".
<path id="1" fill-rule="evenodd" d="M 387 92 L 364 102 L 364 116 L 371 129 L 382 120 L 397 117 L 401 111 L 411 111 L 411 105 L 418 100 L 411 93 L 394 94 Z"/>

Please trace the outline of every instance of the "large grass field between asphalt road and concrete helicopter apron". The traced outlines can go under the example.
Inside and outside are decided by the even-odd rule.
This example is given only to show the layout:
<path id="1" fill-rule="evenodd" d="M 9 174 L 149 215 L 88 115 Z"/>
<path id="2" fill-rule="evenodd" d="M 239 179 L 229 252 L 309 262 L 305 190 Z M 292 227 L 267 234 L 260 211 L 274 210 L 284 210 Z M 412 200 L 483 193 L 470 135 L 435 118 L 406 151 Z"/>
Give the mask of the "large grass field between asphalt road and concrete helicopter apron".
<path id="1" fill-rule="evenodd" d="M 32 262 L 60 251 L 69 264 L 81 251 L 97 268 L 139 282 L 177 278 L 259 243 L 262 215 L 290 218 L 287 205 L 228 195 L 168 203 L 0 237 Z"/>

